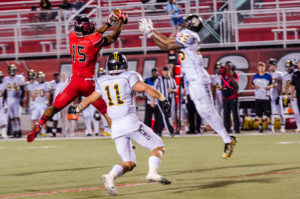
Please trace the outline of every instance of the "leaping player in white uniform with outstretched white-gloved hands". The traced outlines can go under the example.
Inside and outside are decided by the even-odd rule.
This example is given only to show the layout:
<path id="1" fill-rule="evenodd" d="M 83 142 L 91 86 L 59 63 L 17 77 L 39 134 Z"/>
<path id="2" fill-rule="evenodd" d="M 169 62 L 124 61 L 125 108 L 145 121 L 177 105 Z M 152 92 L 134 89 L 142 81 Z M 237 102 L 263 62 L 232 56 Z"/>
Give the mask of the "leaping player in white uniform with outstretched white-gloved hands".
<path id="1" fill-rule="evenodd" d="M 152 21 L 141 19 L 139 29 L 151 38 L 164 51 L 180 49 L 182 71 L 189 82 L 191 99 L 194 101 L 199 115 L 222 137 L 225 147 L 223 158 L 231 156 L 236 138 L 229 136 L 216 112 L 210 91 L 210 77 L 203 67 L 203 57 L 200 53 L 200 37 L 198 32 L 203 24 L 197 15 L 187 15 L 185 28 L 177 33 L 175 38 L 167 38 L 154 30 Z"/>

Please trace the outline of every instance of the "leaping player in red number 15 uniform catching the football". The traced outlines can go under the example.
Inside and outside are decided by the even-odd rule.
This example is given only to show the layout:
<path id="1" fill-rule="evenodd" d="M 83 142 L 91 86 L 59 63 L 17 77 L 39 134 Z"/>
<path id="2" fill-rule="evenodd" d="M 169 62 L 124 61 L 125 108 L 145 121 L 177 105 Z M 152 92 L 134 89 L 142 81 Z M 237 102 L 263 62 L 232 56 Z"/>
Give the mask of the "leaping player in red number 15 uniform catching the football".
<path id="1" fill-rule="evenodd" d="M 75 18 L 74 31 L 69 35 L 70 52 L 72 60 L 72 76 L 61 93 L 55 98 L 49 107 L 27 135 L 27 142 L 34 141 L 41 127 L 52 116 L 66 107 L 78 96 L 89 96 L 95 90 L 95 64 L 97 55 L 102 47 L 113 43 L 121 33 L 121 27 L 127 23 L 127 14 L 122 10 L 113 11 L 107 23 L 95 30 L 94 22 L 86 16 Z M 112 25 L 117 23 L 111 35 L 102 34 Z M 106 118 L 110 124 L 111 120 L 106 113 L 106 104 L 103 99 L 93 103 L 97 110 Z"/>

